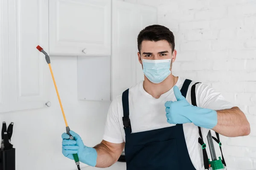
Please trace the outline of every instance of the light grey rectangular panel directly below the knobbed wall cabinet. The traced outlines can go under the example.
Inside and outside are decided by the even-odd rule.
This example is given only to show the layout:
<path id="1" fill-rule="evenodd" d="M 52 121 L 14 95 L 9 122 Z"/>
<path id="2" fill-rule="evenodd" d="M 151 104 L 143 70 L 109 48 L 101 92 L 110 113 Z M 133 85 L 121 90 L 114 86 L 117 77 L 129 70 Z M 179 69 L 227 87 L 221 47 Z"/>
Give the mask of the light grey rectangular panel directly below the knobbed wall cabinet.
<path id="1" fill-rule="evenodd" d="M 77 57 L 79 100 L 110 101 L 110 56 Z"/>

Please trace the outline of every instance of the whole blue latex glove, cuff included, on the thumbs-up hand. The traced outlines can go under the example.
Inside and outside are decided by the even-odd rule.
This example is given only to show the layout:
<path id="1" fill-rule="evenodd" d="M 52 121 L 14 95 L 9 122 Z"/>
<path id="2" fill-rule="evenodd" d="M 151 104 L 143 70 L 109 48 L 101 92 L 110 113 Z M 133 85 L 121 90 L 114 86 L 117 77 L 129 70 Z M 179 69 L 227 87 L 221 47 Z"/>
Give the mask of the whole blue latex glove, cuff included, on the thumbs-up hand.
<path id="1" fill-rule="evenodd" d="M 217 125 L 217 112 L 211 109 L 190 105 L 180 89 L 175 85 L 173 91 L 177 101 L 165 103 L 167 122 L 170 124 L 194 123 L 196 126 L 212 129 Z"/>

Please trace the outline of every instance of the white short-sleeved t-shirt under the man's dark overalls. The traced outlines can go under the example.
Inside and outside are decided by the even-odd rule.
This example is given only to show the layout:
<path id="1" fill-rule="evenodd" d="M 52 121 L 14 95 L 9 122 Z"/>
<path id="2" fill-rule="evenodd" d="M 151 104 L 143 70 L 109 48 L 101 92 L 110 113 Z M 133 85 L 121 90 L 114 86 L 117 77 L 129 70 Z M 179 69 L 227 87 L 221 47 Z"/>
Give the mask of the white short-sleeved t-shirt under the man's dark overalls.
<path id="1" fill-rule="evenodd" d="M 181 89 L 185 78 L 178 77 L 175 84 Z M 191 104 L 191 87 L 195 82 L 191 82 L 186 99 Z M 212 110 L 229 109 L 235 107 L 230 102 L 224 100 L 223 96 L 205 83 L 199 83 L 195 88 L 197 105 L 201 108 Z M 167 122 L 165 102 L 177 101 L 173 88 L 162 94 L 159 99 L 155 99 L 143 88 L 143 81 L 129 89 L 129 117 L 131 120 L 132 133 L 148 130 L 160 129 L 174 126 Z M 105 133 L 103 140 L 111 143 L 125 142 L 125 130 L 123 128 L 122 94 L 113 99 L 110 105 Z M 209 129 L 201 128 L 204 142 L 207 143 L 207 133 Z M 184 136 L 188 148 L 189 156 L 196 170 L 204 169 L 202 147 L 198 143 L 198 127 L 193 123 L 183 124 Z"/>

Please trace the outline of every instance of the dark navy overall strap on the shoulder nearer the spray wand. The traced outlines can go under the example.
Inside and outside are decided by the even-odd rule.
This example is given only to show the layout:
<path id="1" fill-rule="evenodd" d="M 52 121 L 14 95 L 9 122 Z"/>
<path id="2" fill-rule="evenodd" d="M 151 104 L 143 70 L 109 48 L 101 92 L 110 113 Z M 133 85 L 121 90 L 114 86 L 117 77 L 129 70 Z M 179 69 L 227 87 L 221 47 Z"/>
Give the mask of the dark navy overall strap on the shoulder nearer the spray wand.
<path id="1" fill-rule="evenodd" d="M 129 89 L 122 93 L 122 107 L 124 114 L 122 120 L 125 129 L 125 135 L 127 135 L 131 133 L 131 121 L 129 118 Z"/>

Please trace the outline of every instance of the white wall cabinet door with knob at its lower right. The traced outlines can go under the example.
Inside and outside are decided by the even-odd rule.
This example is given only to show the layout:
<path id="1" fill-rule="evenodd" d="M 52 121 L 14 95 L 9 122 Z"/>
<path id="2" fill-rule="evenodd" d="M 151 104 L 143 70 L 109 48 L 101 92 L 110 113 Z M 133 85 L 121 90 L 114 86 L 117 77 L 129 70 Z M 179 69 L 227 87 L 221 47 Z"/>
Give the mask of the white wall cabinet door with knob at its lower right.
<path id="1" fill-rule="evenodd" d="M 111 0 L 49 0 L 52 55 L 110 55 Z"/>

